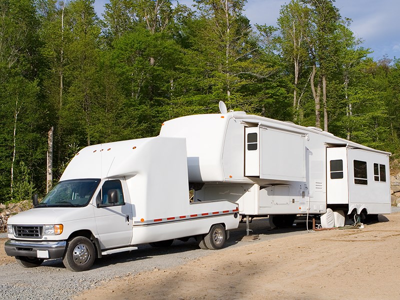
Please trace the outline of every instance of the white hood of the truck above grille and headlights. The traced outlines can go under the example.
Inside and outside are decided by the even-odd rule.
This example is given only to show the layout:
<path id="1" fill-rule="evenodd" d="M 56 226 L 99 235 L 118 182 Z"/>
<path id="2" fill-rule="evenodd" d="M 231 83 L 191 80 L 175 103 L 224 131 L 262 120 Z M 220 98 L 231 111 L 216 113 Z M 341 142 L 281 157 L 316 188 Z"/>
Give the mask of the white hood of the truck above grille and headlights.
<path id="1" fill-rule="evenodd" d="M 7 223 L 13 225 L 45 225 L 58 224 L 65 221 L 93 216 L 91 204 L 85 207 L 39 207 L 21 211 L 8 218 Z M 82 213 L 82 210 L 86 210 Z"/>

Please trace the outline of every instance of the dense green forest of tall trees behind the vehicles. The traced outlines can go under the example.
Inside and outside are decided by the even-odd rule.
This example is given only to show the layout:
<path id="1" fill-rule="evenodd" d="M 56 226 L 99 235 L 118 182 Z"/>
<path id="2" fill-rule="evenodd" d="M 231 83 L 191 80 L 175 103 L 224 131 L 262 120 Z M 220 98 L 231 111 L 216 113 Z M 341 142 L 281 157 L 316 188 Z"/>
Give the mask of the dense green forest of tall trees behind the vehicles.
<path id="1" fill-rule="evenodd" d="M 43 195 L 47 156 L 56 182 L 80 148 L 219 100 L 400 154 L 400 60 L 368 56 L 334 0 L 291 0 L 275 27 L 245 0 L 93 4 L 0 0 L 0 202 Z"/>

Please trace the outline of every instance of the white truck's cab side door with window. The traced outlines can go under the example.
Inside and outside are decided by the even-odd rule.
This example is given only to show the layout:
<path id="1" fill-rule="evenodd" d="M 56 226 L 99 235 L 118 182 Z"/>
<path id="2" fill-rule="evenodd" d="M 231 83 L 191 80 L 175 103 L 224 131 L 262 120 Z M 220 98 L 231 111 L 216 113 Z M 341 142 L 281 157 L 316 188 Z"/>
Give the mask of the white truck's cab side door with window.
<path id="1" fill-rule="evenodd" d="M 116 190 L 118 202 L 108 202 L 108 191 Z M 106 180 L 96 195 L 94 216 L 101 248 L 129 245 L 132 239 L 132 209 L 120 180 Z"/>

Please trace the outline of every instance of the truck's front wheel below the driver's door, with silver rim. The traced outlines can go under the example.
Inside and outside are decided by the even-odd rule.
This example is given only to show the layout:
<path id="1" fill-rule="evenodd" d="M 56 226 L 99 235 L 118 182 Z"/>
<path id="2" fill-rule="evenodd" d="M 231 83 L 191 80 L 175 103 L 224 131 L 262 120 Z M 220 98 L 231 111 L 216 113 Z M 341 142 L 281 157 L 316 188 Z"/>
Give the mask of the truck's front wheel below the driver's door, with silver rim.
<path id="1" fill-rule="evenodd" d="M 95 256 L 96 250 L 91 240 L 76 236 L 68 241 L 62 263 L 71 271 L 85 271 L 93 265 Z"/>

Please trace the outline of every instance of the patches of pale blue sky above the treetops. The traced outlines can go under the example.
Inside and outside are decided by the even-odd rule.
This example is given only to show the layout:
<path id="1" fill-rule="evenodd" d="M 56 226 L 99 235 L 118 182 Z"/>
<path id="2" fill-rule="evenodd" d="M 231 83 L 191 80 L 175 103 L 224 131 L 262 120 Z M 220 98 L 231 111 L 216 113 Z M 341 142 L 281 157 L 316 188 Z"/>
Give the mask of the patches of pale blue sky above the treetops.
<path id="1" fill-rule="evenodd" d="M 247 0 L 244 14 L 251 24 L 275 25 L 280 6 L 289 0 Z M 94 8 L 99 16 L 107 0 L 95 0 Z M 192 0 L 180 0 L 191 6 Z M 400 1 L 399 0 L 336 0 L 342 17 L 352 19 L 350 29 L 362 44 L 373 50 L 375 60 L 387 55 L 400 57 Z"/>

